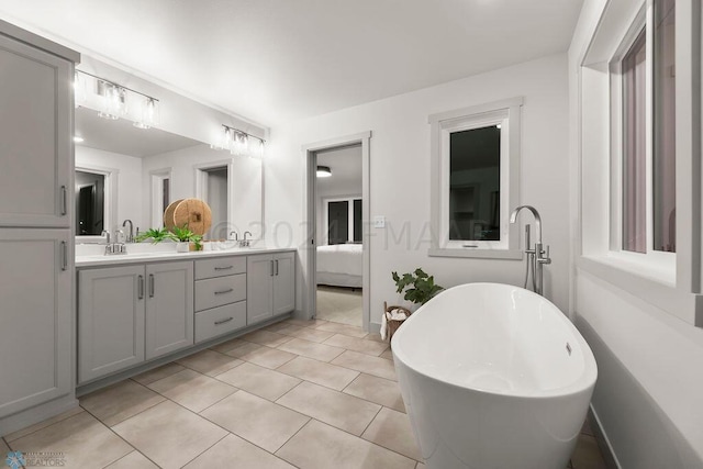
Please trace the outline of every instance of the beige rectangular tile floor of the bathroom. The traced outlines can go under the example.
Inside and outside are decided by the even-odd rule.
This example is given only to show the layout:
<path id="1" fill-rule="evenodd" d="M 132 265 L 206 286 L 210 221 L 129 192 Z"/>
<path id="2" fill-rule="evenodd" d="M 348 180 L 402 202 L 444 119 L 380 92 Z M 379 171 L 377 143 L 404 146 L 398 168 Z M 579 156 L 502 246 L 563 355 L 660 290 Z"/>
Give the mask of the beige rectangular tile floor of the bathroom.
<path id="1" fill-rule="evenodd" d="M 289 320 L 80 399 L 0 438 L 66 468 L 408 468 L 415 445 L 388 345 L 359 327 Z M 584 426 L 569 468 L 604 469 Z"/>

